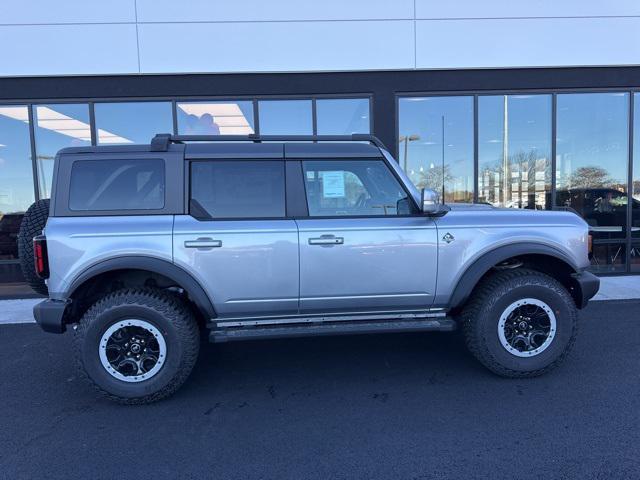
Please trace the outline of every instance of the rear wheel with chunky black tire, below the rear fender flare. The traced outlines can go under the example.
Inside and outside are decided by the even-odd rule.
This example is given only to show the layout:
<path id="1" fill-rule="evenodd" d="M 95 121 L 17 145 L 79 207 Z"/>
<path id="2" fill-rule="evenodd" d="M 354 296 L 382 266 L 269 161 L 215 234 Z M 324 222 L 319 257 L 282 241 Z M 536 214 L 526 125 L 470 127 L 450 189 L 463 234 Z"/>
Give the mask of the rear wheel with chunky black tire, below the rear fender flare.
<path id="1" fill-rule="evenodd" d="M 195 365 L 200 332 L 190 309 L 159 290 L 120 290 L 82 317 L 75 335 L 82 373 L 101 393 L 126 404 L 173 394 Z"/>

